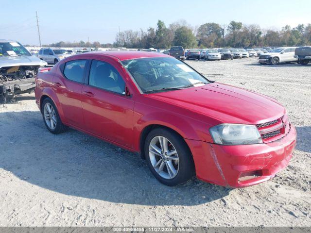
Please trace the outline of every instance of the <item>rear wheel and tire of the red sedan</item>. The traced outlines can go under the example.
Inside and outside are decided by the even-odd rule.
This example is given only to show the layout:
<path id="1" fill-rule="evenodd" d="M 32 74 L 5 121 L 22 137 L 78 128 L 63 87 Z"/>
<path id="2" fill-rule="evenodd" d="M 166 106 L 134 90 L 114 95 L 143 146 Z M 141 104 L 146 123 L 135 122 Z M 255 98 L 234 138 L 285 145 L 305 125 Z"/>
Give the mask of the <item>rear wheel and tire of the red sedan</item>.
<path id="1" fill-rule="evenodd" d="M 44 124 L 51 133 L 59 134 L 67 130 L 67 126 L 61 121 L 56 106 L 50 98 L 43 100 L 41 113 Z"/>

